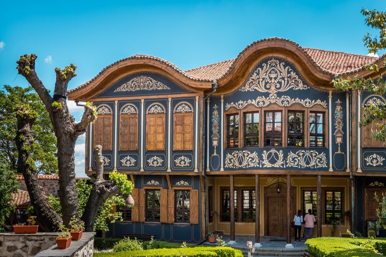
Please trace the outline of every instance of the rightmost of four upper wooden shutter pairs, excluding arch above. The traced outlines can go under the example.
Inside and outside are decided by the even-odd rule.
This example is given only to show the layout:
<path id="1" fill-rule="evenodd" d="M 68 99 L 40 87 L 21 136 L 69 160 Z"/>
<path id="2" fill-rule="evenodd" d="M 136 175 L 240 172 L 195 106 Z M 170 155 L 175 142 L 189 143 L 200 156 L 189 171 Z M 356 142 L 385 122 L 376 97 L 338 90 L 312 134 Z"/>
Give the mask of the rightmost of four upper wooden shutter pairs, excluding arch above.
<path id="1" fill-rule="evenodd" d="M 193 149 L 193 114 L 174 114 L 174 150 Z"/>

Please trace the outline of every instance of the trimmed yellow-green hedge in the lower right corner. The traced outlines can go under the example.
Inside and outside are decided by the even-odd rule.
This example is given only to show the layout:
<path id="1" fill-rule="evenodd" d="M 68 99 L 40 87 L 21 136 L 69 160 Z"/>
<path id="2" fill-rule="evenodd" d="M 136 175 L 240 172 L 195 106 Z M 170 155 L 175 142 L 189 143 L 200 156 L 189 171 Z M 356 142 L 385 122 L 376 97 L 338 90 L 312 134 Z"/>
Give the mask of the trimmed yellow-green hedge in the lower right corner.
<path id="1" fill-rule="evenodd" d="M 365 243 L 365 246 L 360 244 Z M 352 238 L 344 237 L 319 237 L 311 238 L 306 241 L 307 250 L 315 257 L 346 257 L 346 256 L 384 256 L 381 253 L 376 253 L 371 248 L 378 252 L 385 252 L 386 241 L 370 240 L 369 238 Z"/>

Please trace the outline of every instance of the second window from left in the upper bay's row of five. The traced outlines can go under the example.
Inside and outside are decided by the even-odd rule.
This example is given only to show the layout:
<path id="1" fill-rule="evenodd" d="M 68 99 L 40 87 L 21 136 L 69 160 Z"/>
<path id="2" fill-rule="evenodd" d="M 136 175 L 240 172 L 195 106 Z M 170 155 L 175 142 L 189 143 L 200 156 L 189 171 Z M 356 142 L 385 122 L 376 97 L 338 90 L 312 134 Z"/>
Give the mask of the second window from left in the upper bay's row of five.
<path id="1" fill-rule="evenodd" d="M 259 146 L 259 113 L 244 114 L 244 146 Z"/>

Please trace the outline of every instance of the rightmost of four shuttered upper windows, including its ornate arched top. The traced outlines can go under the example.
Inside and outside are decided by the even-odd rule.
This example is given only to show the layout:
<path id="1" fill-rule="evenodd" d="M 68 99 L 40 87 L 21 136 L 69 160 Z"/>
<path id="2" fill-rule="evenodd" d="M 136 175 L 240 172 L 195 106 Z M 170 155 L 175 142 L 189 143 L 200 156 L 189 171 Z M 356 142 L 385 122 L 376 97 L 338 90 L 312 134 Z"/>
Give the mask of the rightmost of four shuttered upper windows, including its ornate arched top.
<path id="1" fill-rule="evenodd" d="M 187 102 L 180 102 L 174 107 L 173 150 L 193 150 L 193 108 Z"/>

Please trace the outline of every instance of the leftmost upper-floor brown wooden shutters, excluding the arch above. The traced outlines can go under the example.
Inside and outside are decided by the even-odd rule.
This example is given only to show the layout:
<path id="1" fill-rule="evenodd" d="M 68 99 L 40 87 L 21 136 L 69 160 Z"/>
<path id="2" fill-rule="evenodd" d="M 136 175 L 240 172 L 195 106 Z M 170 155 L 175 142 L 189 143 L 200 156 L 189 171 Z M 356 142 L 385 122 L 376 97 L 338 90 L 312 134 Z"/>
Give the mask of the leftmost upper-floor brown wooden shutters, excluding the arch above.
<path id="1" fill-rule="evenodd" d="M 113 150 L 113 116 L 100 115 L 94 123 L 94 145 L 102 145 L 103 151 Z"/>

